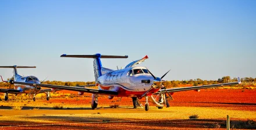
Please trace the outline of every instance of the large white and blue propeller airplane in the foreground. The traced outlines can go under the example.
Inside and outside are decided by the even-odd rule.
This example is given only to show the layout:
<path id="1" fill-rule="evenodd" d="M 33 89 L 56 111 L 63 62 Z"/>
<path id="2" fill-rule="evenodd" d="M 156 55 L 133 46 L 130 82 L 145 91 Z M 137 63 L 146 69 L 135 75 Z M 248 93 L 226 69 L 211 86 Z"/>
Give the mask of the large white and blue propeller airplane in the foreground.
<path id="1" fill-rule="evenodd" d="M 230 86 L 233 84 L 241 84 L 240 78 L 238 77 L 237 82 L 223 83 L 223 84 L 211 84 L 205 86 L 195 87 L 182 87 L 182 88 L 169 88 L 166 89 L 163 86 L 163 77 L 169 72 L 166 72 L 162 77 L 154 76 L 150 70 L 145 67 L 136 66 L 141 62 L 148 59 L 148 56 L 136 60 L 126 65 L 123 69 L 112 70 L 104 68 L 101 64 L 101 58 L 128 58 L 127 55 L 67 55 L 63 54 L 61 57 L 72 57 L 72 58 L 93 58 L 95 84 L 98 89 L 86 88 L 86 87 L 69 87 L 69 86 L 55 86 L 50 84 L 39 84 L 39 83 L 25 83 L 20 81 L 9 81 L 12 84 L 24 84 L 34 87 L 48 87 L 53 89 L 71 90 L 78 91 L 79 95 L 83 95 L 84 92 L 92 94 L 91 108 L 96 109 L 98 105 L 98 95 L 108 95 L 109 99 L 113 99 L 114 96 L 118 97 L 131 97 L 135 99 L 141 99 L 145 97 L 145 110 L 149 110 L 148 97 L 150 96 L 153 103 L 157 105 L 159 109 L 165 105 L 165 103 L 159 103 L 157 96 L 159 94 L 168 94 L 172 96 L 173 92 L 196 90 L 199 91 L 202 88 L 212 88 L 221 86 Z M 157 95 L 157 96 L 156 96 Z M 159 97 L 159 96 L 158 96 Z M 165 96 L 163 96 L 165 98 Z M 164 100 L 165 101 L 165 100 Z"/>

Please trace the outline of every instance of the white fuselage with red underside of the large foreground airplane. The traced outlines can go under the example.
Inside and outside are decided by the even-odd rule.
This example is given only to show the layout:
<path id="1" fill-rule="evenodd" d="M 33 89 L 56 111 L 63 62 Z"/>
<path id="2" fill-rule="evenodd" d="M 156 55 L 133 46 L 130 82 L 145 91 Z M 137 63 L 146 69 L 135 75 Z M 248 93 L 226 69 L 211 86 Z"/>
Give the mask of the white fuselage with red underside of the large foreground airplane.
<path id="1" fill-rule="evenodd" d="M 150 80 L 150 83 L 141 83 L 141 80 Z M 98 77 L 99 90 L 117 91 L 118 96 L 140 97 L 150 90 L 154 77 L 144 67 L 131 67 L 102 73 Z M 151 89 L 148 94 L 157 92 L 160 88 Z"/>

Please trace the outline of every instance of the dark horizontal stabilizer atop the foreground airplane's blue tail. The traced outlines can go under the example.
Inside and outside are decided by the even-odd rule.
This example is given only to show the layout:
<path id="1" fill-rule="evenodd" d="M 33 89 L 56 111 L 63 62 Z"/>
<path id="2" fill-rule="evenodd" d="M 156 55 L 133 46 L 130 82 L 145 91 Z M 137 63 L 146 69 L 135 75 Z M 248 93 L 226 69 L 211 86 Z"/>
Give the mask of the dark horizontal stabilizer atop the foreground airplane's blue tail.
<path id="1" fill-rule="evenodd" d="M 73 57 L 73 58 L 128 58 L 128 55 L 121 56 L 121 55 L 101 55 L 101 54 L 95 54 L 95 55 L 67 55 L 63 54 L 61 57 Z"/>

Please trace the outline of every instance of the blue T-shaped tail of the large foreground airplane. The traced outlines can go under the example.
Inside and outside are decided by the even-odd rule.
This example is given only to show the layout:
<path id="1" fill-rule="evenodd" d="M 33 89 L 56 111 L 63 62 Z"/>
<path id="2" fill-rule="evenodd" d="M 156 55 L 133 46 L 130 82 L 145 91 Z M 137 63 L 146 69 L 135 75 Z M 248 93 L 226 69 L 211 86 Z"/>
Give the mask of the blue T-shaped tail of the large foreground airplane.
<path id="1" fill-rule="evenodd" d="M 94 55 L 66 55 L 63 54 L 61 57 L 73 57 L 73 58 L 94 58 L 93 61 L 93 67 L 94 67 L 94 76 L 95 76 L 95 82 L 97 83 L 97 79 L 99 76 L 102 75 L 101 69 L 101 58 L 128 58 L 127 55 L 125 56 L 119 56 L 119 55 L 101 55 L 101 54 L 94 54 Z"/>

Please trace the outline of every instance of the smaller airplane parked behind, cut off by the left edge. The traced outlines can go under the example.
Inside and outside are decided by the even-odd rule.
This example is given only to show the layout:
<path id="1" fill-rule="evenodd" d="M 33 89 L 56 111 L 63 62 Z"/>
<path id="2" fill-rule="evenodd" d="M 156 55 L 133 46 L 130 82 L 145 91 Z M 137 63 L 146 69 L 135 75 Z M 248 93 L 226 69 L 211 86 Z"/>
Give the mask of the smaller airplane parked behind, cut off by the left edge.
<path id="1" fill-rule="evenodd" d="M 35 76 L 20 76 L 17 73 L 17 68 L 36 68 L 36 66 L 0 66 L 0 68 L 13 68 L 13 79 L 14 80 L 9 80 L 9 81 L 4 81 L 3 77 L 1 76 L 1 79 L 5 83 L 9 83 L 10 81 L 19 81 L 19 82 L 24 82 L 24 83 L 37 83 L 40 84 L 40 80 L 38 80 L 37 77 Z M 43 81 L 42 81 L 43 82 Z M 41 82 L 41 83 L 42 83 Z M 11 83 L 12 84 L 12 83 Z M 50 92 L 52 89 L 44 89 L 42 90 L 41 87 L 37 86 L 27 86 L 27 85 L 22 85 L 22 84 L 15 84 L 14 89 L 2 89 L 0 88 L 0 92 L 5 93 L 5 101 L 8 101 L 8 94 L 33 94 L 33 101 L 35 101 L 35 95 L 40 94 L 40 93 L 45 93 L 47 95 L 46 99 L 49 101 L 50 99 Z"/>

